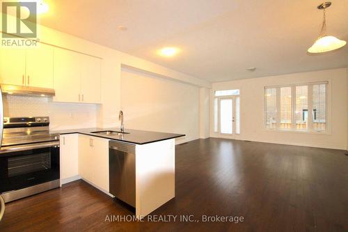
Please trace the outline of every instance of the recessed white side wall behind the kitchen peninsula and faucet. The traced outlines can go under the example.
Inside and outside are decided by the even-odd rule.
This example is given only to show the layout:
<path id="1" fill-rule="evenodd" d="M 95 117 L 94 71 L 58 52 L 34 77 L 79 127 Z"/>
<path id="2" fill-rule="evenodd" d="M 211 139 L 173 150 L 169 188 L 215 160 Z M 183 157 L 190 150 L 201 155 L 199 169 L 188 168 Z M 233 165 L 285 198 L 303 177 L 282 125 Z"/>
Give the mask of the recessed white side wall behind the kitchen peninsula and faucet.
<path id="1" fill-rule="evenodd" d="M 199 138 L 199 88 L 122 68 L 121 109 L 125 128 L 186 134 Z"/>

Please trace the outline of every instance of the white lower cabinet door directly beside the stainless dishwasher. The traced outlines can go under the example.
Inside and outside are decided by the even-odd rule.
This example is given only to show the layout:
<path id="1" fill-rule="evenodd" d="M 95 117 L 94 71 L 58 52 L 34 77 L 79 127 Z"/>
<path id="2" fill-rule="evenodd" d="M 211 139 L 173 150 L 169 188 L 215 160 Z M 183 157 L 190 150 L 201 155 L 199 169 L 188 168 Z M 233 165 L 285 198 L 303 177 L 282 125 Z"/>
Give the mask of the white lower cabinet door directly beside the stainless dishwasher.
<path id="1" fill-rule="evenodd" d="M 109 139 L 93 137 L 93 184 L 109 192 Z"/>

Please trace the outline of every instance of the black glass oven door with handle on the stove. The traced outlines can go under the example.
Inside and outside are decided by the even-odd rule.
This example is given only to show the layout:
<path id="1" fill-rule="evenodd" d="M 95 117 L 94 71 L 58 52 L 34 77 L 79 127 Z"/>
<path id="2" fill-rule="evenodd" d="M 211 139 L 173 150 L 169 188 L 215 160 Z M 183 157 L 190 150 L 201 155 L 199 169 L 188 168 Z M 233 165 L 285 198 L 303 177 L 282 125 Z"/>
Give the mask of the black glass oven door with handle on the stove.
<path id="1" fill-rule="evenodd" d="M 59 179 L 59 141 L 0 150 L 0 193 Z"/>

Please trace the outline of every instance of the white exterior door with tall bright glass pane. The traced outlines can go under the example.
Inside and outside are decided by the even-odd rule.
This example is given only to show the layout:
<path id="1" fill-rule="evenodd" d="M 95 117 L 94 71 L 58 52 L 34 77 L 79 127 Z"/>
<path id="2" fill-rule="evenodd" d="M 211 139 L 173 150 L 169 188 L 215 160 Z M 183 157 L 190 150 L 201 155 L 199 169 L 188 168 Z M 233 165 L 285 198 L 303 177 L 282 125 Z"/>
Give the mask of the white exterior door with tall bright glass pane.
<path id="1" fill-rule="evenodd" d="M 219 98 L 219 134 L 237 139 L 239 118 L 239 95 Z"/>

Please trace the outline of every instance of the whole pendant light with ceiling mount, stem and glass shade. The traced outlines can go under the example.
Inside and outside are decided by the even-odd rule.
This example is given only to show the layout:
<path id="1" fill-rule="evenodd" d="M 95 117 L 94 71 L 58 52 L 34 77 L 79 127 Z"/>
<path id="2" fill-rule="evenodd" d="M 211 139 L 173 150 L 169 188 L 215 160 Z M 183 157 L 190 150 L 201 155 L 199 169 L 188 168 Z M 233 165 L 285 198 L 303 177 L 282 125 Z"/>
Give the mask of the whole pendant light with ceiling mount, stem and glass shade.
<path id="1" fill-rule="evenodd" d="M 339 40 L 338 38 L 335 38 L 335 36 L 327 36 L 326 34 L 325 9 L 329 6 L 331 6 L 331 1 L 326 1 L 317 6 L 319 10 L 323 10 L 323 24 L 322 29 L 320 30 L 319 38 L 315 41 L 312 47 L 308 49 L 308 53 L 322 53 L 333 51 L 335 49 L 339 49 L 340 47 L 345 46 L 347 43 L 345 40 Z"/>

